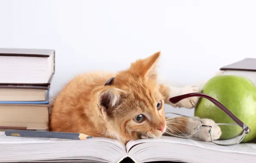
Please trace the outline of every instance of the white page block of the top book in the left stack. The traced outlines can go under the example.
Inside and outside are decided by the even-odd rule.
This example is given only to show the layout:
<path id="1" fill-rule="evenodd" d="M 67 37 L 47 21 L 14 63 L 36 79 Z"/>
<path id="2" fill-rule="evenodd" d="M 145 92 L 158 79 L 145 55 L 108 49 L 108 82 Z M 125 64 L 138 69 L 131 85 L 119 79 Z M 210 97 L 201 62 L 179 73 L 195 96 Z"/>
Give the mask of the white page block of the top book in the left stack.
<path id="1" fill-rule="evenodd" d="M 0 83 L 47 83 L 50 61 L 48 57 L 0 56 Z"/>

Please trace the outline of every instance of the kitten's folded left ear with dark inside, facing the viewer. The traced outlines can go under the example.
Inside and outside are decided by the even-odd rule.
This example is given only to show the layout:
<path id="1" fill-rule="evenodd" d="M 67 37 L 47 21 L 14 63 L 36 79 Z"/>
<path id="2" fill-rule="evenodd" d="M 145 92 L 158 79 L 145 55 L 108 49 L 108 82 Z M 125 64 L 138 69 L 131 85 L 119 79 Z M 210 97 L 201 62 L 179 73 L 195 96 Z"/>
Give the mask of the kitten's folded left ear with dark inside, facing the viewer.
<path id="1" fill-rule="evenodd" d="M 98 99 L 98 105 L 101 108 L 101 112 L 106 112 L 107 115 L 112 115 L 114 109 L 120 105 L 124 95 L 125 91 L 118 88 L 108 88 L 101 93 Z"/>

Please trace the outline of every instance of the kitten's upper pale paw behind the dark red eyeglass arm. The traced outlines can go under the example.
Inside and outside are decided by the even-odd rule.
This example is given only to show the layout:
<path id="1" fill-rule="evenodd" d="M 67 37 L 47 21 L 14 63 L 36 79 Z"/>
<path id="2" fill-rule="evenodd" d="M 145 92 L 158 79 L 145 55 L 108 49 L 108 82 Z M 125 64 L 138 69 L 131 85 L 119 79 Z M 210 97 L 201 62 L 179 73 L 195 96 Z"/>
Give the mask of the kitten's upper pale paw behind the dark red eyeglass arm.
<path id="1" fill-rule="evenodd" d="M 189 93 L 197 93 L 200 89 L 196 86 L 186 86 L 180 90 L 179 95 L 183 94 L 189 94 Z M 183 100 L 180 100 L 180 102 L 177 103 L 178 107 L 184 107 L 187 109 L 192 109 L 196 106 L 198 103 L 200 97 L 190 97 Z"/>

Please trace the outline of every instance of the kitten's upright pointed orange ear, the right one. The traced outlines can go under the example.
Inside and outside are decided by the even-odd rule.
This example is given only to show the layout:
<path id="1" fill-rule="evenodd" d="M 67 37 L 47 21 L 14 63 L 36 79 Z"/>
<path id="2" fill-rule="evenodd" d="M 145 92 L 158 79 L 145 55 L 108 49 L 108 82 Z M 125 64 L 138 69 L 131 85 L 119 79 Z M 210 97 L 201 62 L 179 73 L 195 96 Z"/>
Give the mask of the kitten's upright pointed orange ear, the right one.
<path id="1" fill-rule="evenodd" d="M 146 79 L 156 80 L 156 66 L 160 55 L 161 52 L 158 51 L 155 54 L 146 57 L 145 59 L 137 60 L 136 62 L 131 63 L 130 69 L 132 70 L 132 72 L 137 73 L 138 75 L 143 76 Z"/>

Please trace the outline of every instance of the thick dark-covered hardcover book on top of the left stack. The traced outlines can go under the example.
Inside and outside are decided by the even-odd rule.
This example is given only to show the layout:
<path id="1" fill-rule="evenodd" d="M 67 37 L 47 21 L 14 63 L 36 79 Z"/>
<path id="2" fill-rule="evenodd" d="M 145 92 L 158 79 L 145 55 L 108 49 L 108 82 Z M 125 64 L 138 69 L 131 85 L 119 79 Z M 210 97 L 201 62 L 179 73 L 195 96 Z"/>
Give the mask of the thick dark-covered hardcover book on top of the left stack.
<path id="1" fill-rule="evenodd" d="M 0 85 L 50 85 L 55 50 L 0 48 Z"/>

